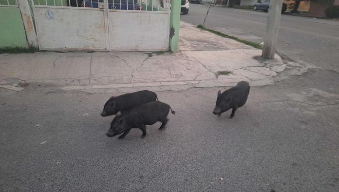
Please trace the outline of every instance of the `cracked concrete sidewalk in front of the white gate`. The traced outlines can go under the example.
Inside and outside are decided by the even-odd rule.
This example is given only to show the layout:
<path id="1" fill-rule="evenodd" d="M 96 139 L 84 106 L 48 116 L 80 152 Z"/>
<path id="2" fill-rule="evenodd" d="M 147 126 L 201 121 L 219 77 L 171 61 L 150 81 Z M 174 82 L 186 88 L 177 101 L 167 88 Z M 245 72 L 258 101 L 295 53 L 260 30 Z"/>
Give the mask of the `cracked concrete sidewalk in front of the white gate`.
<path id="1" fill-rule="evenodd" d="M 181 22 L 180 52 L 94 52 L 0 55 L 0 86 L 8 77 L 27 83 L 58 86 L 63 90 L 188 85 L 230 86 L 241 80 L 251 85 L 272 84 L 286 64 L 262 62 L 261 50 L 201 31 Z M 224 72 L 228 75 L 217 75 Z M 7 82 L 7 83 L 6 83 Z M 21 82 L 22 84 L 22 82 Z"/>

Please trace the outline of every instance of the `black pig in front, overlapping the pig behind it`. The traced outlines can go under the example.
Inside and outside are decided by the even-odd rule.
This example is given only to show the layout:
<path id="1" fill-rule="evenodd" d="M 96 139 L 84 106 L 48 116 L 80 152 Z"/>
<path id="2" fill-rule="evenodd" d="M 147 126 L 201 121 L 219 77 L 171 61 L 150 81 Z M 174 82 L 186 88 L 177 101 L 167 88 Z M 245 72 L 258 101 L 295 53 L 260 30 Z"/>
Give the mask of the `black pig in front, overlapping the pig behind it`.
<path id="1" fill-rule="evenodd" d="M 106 133 L 107 136 L 120 135 L 118 138 L 124 138 L 132 128 L 139 128 L 142 131 L 143 138 L 146 135 L 146 125 L 153 125 L 160 121 L 162 122 L 159 130 L 162 130 L 167 121 L 167 115 L 169 110 L 174 115 L 175 111 L 172 111 L 170 106 L 160 101 L 152 101 L 141 106 L 135 107 L 132 110 L 115 116 L 111 123 L 110 130 Z"/>

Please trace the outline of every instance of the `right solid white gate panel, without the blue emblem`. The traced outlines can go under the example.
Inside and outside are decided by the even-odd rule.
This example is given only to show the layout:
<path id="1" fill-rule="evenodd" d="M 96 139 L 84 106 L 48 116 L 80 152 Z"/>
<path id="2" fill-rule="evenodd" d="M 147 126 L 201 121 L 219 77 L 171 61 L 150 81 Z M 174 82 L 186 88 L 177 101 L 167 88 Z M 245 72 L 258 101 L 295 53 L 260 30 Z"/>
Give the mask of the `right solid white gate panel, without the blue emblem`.
<path id="1" fill-rule="evenodd" d="M 122 21 L 124 24 L 121 23 Z M 112 51 L 169 49 L 169 14 L 167 12 L 110 10 L 108 26 Z"/>

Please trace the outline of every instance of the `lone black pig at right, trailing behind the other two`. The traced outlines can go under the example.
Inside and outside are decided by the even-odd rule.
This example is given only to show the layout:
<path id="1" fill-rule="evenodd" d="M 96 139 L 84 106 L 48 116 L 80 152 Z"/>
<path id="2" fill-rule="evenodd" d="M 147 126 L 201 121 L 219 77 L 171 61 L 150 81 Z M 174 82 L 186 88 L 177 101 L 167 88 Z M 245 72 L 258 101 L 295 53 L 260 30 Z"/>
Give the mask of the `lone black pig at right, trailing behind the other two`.
<path id="1" fill-rule="evenodd" d="M 223 93 L 219 90 L 217 104 L 215 105 L 213 114 L 220 115 L 229 109 L 232 109 L 231 118 L 235 111 L 245 105 L 249 94 L 249 84 L 246 81 L 239 82 L 235 87 L 232 87 Z"/>

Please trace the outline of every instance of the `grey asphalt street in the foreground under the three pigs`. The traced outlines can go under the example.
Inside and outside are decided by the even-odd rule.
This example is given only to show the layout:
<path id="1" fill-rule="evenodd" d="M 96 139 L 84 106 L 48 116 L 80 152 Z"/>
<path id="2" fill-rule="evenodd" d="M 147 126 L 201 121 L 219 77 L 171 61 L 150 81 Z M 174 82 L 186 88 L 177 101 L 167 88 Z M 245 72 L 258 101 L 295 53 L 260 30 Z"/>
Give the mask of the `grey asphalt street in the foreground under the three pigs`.
<path id="1" fill-rule="evenodd" d="M 212 114 L 226 88 L 158 92 L 167 128 L 122 140 L 99 115 L 112 94 L 2 90 L 0 190 L 338 192 L 338 82 L 314 69 L 252 87 L 234 119 Z"/>

